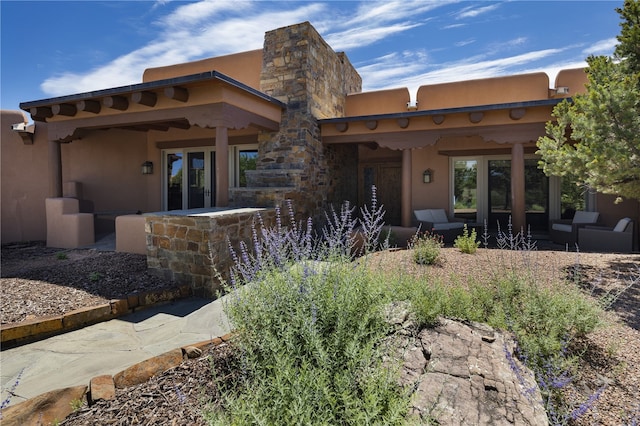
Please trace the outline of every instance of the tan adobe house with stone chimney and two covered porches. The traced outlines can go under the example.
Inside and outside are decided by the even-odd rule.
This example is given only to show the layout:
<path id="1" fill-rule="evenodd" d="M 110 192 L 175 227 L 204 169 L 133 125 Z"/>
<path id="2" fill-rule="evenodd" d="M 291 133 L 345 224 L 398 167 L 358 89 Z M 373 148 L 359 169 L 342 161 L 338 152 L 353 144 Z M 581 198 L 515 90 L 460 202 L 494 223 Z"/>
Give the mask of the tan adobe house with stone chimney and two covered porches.
<path id="1" fill-rule="evenodd" d="M 81 246 L 120 223 L 122 249 L 144 252 L 153 227 L 147 217 L 143 230 L 136 213 L 290 199 L 301 215 L 320 216 L 344 200 L 367 202 L 371 185 L 391 225 L 445 208 L 544 233 L 562 215 L 562 185 L 537 169 L 535 142 L 553 107 L 585 82 L 582 69 L 561 71 L 553 86 L 544 73 L 427 81 L 412 102 L 406 88 L 362 92 L 347 56 L 310 23 L 279 28 L 262 50 L 23 102 L 31 127 L 24 113 L 3 111 L 2 242 Z M 587 208 L 606 225 L 638 222 L 638 202 L 612 200 L 592 194 Z"/>

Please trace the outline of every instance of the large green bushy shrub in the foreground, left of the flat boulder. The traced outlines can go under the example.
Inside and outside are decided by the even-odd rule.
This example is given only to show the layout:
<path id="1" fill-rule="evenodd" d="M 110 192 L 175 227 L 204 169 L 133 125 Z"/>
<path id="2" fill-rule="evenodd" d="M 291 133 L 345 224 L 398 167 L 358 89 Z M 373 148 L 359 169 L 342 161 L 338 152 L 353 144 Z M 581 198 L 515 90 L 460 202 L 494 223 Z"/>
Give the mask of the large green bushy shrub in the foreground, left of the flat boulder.
<path id="1" fill-rule="evenodd" d="M 243 373 L 220 424 L 403 424 L 400 360 L 383 362 L 386 282 L 345 262 L 303 262 L 239 289 L 225 311 Z"/>

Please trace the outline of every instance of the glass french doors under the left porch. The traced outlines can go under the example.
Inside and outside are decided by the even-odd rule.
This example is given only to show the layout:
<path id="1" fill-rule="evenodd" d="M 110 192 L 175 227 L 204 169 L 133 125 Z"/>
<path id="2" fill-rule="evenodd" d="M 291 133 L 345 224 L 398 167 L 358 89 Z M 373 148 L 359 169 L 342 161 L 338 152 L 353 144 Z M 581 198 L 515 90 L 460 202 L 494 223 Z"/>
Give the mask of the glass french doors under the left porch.
<path id="1" fill-rule="evenodd" d="M 215 155 L 214 150 L 201 148 L 164 152 L 165 210 L 215 206 Z"/>

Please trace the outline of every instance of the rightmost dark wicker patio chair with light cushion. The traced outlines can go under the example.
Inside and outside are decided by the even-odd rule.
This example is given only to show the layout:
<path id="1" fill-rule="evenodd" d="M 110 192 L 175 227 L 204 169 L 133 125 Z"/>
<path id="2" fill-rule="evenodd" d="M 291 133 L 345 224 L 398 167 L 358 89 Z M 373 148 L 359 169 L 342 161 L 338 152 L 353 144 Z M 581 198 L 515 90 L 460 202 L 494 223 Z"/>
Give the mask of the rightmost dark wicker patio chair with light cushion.
<path id="1" fill-rule="evenodd" d="M 585 226 L 578 231 L 581 251 L 630 253 L 633 250 L 633 221 L 625 217 L 615 227 Z"/>

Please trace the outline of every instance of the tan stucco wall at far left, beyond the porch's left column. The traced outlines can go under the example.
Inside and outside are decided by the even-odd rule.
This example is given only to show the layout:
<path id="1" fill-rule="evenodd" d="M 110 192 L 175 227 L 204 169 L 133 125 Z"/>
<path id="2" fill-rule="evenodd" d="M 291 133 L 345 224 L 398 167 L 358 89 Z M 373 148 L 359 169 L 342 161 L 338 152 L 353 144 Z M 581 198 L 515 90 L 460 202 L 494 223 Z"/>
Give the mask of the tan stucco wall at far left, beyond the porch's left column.
<path id="1" fill-rule="evenodd" d="M 3 110 L 0 118 L 2 243 L 46 238 L 44 199 L 49 191 L 46 125 L 38 125 L 33 145 L 24 145 L 11 125 L 26 121 L 20 111 Z"/>

